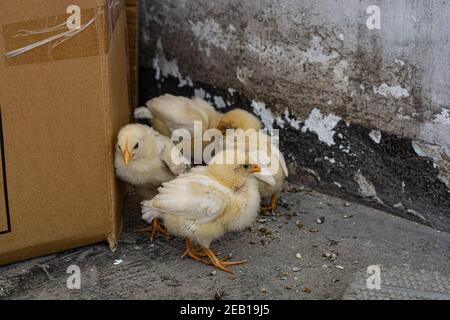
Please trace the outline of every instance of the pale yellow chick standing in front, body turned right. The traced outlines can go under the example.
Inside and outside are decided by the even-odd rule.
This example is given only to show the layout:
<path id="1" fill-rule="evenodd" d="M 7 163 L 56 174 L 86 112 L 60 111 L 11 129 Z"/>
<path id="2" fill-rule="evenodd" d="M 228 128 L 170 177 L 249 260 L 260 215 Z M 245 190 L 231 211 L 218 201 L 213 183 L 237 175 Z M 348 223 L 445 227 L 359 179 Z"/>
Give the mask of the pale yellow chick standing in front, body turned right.
<path id="1" fill-rule="evenodd" d="M 223 153 L 214 159 L 220 157 Z M 210 244 L 226 232 L 242 230 L 255 221 L 260 196 L 253 174 L 260 170 L 257 164 L 233 161 L 213 161 L 195 168 L 163 183 L 152 200 L 143 201 L 142 218 L 148 222 L 161 218 L 171 234 L 185 238 L 183 256 L 234 273 L 227 267 L 246 261 L 219 259 Z"/>

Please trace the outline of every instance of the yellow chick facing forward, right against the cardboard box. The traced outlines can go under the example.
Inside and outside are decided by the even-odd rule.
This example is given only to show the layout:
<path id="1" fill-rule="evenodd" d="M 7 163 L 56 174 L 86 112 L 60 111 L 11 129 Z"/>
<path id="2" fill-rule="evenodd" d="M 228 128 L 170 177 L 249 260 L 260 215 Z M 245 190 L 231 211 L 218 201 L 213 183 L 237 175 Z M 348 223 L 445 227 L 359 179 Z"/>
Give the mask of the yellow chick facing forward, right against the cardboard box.
<path id="1" fill-rule="evenodd" d="M 152 128 L 128 124 L 117 135 L 116 176 L 130 184 L 142 200 L 151 199 L 163 182 L 187 170 L 188 166 L 177 150 L 169 138 Z M 166 233 L 156 219 L 150 228 L 138 231 L 151 231 L 152 239 L 157 232 Z"/>

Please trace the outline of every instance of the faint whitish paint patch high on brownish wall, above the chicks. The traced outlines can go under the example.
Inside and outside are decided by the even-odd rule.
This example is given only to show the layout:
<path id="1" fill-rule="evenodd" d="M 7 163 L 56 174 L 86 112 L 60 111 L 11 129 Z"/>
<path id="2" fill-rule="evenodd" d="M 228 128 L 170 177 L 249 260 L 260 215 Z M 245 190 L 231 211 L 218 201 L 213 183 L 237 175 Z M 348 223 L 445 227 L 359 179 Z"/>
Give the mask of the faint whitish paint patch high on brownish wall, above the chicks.
<path id="1" fill-rule="evenodd" d="M 227 29 L 222 28 L 214 19 L 205 19 L 197 22 L 189 21 L 191 31 L 198 41 L 199 50 L 206 52 L 210 56 L 211 47 L 227 50 L 232 42 L 233 33 L 236 28 L 229 25 Z"/>

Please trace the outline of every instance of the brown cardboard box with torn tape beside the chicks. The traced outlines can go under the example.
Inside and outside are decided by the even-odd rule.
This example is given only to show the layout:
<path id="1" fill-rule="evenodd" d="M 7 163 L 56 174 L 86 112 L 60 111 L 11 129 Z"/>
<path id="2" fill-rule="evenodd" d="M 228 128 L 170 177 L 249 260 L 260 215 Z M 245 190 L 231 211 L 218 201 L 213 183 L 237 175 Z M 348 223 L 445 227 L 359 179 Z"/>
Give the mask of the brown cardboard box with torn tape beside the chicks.
<path id="1" fill-rule="evenodd" d="M 115 248 L 125 0 L 2 0 L 0 23 L 0 264 L 105 240 Z"/>

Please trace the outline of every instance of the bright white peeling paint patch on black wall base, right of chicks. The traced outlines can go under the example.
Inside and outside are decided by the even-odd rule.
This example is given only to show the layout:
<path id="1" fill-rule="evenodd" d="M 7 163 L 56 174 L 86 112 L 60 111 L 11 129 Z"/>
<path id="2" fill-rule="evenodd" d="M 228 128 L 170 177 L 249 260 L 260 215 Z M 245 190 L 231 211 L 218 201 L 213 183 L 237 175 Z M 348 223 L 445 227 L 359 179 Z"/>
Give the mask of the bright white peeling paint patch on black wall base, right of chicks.
<path id="1" fill-rule="evenodd" d="M 311 131 L 317 134 L 320 141 L 326 143 L 328 146 L 334 145 L 334 134 L 336 127 L 341 117 L 335 114 L 322 115 L 319 109 L 314 108 L 311 111 L 308 119 L 305 120 L 305 125 L 302 127 L 302 132 Z"/>

